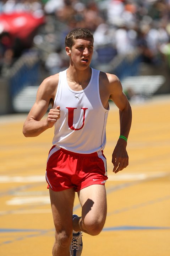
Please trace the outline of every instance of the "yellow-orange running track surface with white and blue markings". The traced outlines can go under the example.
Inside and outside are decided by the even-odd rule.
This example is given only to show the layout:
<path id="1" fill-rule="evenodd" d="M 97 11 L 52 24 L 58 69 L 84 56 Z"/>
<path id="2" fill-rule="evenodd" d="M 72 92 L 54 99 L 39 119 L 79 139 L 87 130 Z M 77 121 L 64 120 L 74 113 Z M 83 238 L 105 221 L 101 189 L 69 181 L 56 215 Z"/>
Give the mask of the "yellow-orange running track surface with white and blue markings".
<path id="1" fill-rule="evenodd" d="M 113 174 L 119 114 L 111 105 L 105 156 L 108 215 L 82 256 L 170 255 L 170 96 L 132 104 L 129 166 Z M 45 168 L 53 129 L 25 138 L 25 115 L 0 117 L 0 255 L 51 256 L 54 225 Z M 78 198 L 74 213 L 80 215 Z M 61 255 L 62 256 L 62 255 Z"/>

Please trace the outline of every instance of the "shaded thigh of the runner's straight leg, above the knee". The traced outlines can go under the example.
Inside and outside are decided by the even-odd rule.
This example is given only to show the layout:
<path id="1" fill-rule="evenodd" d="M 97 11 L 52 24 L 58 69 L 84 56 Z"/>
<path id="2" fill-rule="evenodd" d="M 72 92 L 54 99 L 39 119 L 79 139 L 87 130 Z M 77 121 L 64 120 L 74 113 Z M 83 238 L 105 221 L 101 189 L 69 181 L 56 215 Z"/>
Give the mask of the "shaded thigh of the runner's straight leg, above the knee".
<path id="1" fill-rule="evenodd" d="M 72 230 L 72 214 L 75 199 L 73 188 L 64 191 L 53 191 L 49 188 L 51 209 L 56 231 Z"/>

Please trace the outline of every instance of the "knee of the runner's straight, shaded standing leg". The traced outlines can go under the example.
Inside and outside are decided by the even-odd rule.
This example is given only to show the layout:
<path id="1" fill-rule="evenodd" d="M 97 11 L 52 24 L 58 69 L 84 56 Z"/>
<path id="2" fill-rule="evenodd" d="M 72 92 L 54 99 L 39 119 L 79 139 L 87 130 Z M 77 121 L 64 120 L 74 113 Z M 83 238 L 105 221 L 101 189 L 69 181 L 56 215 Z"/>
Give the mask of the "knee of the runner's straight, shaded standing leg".
<path id="1" fill-rule="evenodd" d="M 61 247 L 68 247 L 71 244 L 72 232 L 67 232 L 66 230 L 55 231 L 55 242 Z"/>

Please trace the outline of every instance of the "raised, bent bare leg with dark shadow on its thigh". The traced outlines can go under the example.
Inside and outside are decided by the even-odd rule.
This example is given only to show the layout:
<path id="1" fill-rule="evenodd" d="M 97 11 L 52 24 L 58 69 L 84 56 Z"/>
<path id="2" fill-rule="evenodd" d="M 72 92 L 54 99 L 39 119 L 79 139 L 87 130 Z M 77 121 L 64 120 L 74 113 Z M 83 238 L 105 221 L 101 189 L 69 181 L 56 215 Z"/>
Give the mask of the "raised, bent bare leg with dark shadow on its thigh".
<path id="1" fill-rule="evenodd" d="M 90 235 L 98 235 L 104 226 L 107 214 L 106 190 L 103 185 L 92 185 L 78 192 L 82 217 L 75 218 L 73 229 Z"/>

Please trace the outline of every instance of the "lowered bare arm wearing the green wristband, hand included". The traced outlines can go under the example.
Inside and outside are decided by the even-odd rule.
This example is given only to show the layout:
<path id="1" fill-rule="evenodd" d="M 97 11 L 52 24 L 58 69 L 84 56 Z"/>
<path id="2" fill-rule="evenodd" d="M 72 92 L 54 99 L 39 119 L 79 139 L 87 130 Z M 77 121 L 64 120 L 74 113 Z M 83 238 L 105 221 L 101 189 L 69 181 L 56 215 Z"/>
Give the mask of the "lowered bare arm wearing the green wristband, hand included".
<path id="1" fill-rule="evenodd" d="M 110 74 L 108 74 L 108 79 L 110 99 L 113 100 L 116 106 L 119 108 L 120 135 L 124 135 L 126 138 L 128 138 L 132 122 L 132 110 L 130 103 L 122 91 L 122 85 L 119 79 Z M 112 162 L 114 165 L 113 172 L 115 173 L 123 170 L 128 165 L 126 146 L 127 142 L 124 139 L 119 138 L 112 155 Z"/>

